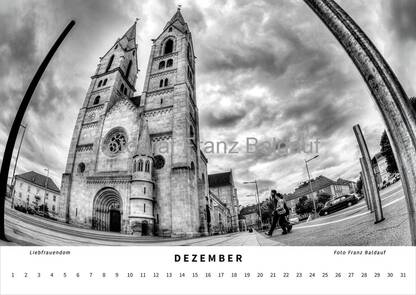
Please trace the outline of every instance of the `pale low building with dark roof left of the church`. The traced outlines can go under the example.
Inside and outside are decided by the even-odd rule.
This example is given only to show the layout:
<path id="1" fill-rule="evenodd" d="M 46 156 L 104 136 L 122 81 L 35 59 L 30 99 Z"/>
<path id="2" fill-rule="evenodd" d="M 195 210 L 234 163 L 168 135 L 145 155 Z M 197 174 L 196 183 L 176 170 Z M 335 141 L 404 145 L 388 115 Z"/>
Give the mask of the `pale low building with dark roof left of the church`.
<path id="1" fill-rule="evenodd" d="M 60 191 L 50 177 L 36 173 L 26 172 L 15 176 L 13 189 L 13 207 L 21 206 L 32 210 L 45 211 L 50 216 L 60 214 Z"/>

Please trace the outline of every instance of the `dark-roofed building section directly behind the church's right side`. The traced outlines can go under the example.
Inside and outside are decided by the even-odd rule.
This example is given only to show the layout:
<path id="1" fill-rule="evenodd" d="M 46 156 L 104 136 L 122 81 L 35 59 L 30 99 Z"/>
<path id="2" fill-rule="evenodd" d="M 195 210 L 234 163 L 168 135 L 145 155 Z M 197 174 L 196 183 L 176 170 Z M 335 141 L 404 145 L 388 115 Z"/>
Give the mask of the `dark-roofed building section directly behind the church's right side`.
<path id="1" fill-rule="evenodd" d="M 208 181 L 209 190 L 230 209 L 232 231 L 239 231 L 239 202 L 237 197 L 237 189 L 234 185 L 232 170 L 229 172 L 210 174 L 208 176 Z"/>

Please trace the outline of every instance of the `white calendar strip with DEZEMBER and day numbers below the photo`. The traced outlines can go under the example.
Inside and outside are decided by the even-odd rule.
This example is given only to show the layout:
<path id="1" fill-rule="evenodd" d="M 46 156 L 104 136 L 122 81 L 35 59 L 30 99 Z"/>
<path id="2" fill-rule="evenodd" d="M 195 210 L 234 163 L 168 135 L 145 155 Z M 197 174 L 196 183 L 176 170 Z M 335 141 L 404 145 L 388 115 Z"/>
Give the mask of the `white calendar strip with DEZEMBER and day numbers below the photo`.
<path id="1" fill-rule="evenodd" d="M 3 247 L 0 292 L 410 295 L 415 255 L 411 247 Z"/>

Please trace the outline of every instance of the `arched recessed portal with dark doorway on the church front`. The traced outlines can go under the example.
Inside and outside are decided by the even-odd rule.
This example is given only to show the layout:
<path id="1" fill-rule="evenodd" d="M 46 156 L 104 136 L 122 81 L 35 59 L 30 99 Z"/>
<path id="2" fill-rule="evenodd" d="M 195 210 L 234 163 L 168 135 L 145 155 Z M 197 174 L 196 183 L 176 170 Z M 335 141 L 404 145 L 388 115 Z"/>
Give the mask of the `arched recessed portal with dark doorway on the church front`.
<path id="1" fill-rule="evenodd" d="M 113 188 L 100 190 L 94 198 L 92 228 L 102 231 L 121 231 L 122 201 Z"/>

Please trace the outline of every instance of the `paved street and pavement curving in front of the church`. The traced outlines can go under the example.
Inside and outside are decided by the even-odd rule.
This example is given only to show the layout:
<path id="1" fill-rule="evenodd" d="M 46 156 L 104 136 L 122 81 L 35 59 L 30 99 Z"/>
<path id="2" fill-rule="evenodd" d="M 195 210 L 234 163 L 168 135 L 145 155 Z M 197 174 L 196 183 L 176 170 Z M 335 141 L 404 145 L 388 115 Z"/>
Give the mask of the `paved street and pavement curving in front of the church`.
<path id="1" fill-rule="evenodd" d="M 300 223 L 289 235 L 276 230 L 273 237 L 263 233 L 233 233 L 186 240 L 159 237 L 135 237 L 93 231 L 51 222 L 40 217 L 6 210 L 6 235 L 10 245 L 176 245 L 176 246 L 399 246 L 410 245 L 409 224 L 401 183 L 381 192 L 385 221 L 374 224 L 374 216 L 364 200 L 358 204 Z"/>

